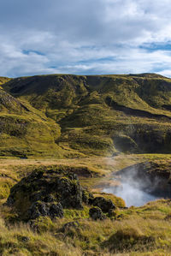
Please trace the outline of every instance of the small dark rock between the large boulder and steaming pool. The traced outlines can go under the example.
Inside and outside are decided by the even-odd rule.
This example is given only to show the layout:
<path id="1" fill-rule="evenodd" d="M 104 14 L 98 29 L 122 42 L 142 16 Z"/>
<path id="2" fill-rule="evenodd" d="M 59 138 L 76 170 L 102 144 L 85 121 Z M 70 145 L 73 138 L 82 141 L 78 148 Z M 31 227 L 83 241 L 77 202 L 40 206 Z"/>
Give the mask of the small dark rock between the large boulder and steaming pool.
<path id="1" fill-rule="evenodd" d="M 100 196 L 93 199 L 92 205 L 99 207 L 103 212 L 109 212 L 115 209 L 115 205 L 111 199 L 105 199 Z"/>

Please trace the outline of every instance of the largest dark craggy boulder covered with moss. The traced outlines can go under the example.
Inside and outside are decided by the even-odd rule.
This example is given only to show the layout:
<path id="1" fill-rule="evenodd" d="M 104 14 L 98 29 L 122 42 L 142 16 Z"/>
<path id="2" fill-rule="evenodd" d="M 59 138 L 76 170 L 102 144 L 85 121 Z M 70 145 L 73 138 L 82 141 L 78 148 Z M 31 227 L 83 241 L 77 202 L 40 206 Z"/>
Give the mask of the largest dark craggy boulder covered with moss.
<path id="1" fill-rule="evenodd" d="M 63 208 L 83 209 L 93 196 L 80 186 L 73 173 L 34 170 L 10 190 L 6 205 L 15 208 L 21 220 L 40 216 L 63 217 Z"/>

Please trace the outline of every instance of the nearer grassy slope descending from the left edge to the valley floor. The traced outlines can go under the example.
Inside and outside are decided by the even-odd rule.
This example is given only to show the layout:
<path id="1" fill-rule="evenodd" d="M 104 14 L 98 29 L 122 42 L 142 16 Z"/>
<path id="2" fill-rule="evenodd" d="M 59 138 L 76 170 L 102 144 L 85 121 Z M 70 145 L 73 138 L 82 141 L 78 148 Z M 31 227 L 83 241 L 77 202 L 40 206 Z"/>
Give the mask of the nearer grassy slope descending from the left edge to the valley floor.
<path id="1" fill-rule="evenodd" d="M 61 157 L 60 134 L 56 122 L 0 89 L 0 156 Z"/>

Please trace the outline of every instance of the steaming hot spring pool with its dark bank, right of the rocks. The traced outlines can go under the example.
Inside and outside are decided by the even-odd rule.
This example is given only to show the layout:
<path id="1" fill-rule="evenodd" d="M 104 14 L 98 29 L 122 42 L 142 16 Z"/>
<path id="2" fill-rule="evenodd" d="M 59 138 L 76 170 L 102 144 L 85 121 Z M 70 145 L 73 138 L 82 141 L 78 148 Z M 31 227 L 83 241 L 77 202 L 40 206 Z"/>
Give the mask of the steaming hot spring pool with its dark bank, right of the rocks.
<path id="1" fill-rule="evenodd" d="M 125 200 L 127 207 L 141 206 L 156 199 L 171 198 L 169 173 L 161 175 L 161 173 L 150 172 L 146 166 L 146 163 L 134 164 L 118 171 L 111 179 L 117 181 L 119 185 L 105 186 L 103 192 L 121 197 Z"/>

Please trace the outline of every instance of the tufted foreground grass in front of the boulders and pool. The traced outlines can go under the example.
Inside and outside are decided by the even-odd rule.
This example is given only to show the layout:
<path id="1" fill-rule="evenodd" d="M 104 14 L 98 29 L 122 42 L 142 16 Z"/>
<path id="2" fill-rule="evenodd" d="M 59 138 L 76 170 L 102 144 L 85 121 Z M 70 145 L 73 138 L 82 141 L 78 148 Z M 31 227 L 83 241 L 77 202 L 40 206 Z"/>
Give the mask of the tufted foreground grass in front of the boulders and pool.
<path id="1" fill-rule="evenodd" d="M 63 224 L 74 221 L 73 215 L 53 222 L 43 217 L 38 220 L 37 231 L 25 223 L 7 227 L 1 219 L 1 252 L 2 255 L 83 255 L 83 252 L 86 255 L 169 255 L 171 227 L 167 216 L 170 211 L 170 202 L 160 200 L 118 211 L 118 217 L 113 220 L 95 222 L 76 217 L 78 228 L 64 232 Z M 150 243 L 143 241 L 146 238 Z"/>

